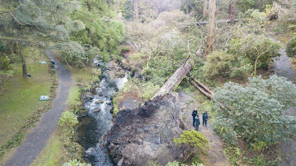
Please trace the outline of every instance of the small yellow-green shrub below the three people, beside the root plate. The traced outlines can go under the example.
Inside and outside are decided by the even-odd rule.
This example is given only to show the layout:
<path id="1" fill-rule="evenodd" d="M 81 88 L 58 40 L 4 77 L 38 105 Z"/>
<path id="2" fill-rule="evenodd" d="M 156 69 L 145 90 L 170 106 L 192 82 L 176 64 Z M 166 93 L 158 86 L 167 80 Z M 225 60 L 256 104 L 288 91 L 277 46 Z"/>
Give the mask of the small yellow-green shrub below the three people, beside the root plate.
<path id="1" fill-rule="evenodd" d="M 208 144 L 208 140 L 201 132 L 184 130 L 180 138 L 174 138 L 174 143 L 178 146 L 189 145 L 190 147 L 204 150 Z"/>

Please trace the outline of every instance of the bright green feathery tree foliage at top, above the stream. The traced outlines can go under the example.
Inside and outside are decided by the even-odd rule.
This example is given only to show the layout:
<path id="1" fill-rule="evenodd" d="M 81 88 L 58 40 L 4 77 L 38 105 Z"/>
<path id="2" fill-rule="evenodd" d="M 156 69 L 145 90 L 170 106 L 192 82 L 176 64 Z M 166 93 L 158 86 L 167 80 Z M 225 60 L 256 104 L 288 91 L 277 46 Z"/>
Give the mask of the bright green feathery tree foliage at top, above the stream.
<path id="1" fill-rule="evenodd" d="M 89 44 L 100 50 L 111 51 L 123 39 L 123 24 L 114 21 L 115 12 L 105 0 L 81 0 L 81 10 L 74 11 L 72 19 L 82 21 L 84 29 L 71 34 L 80 44 Z M 89 19 L 86 19 L 89 18 Z"/>

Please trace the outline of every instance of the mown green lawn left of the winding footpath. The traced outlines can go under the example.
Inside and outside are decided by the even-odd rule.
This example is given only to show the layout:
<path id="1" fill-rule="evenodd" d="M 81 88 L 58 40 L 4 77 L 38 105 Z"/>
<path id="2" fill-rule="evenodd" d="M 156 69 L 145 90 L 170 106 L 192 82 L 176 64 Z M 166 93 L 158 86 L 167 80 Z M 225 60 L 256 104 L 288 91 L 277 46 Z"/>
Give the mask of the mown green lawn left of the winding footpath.
<path id="1" fill-rule="evenodd" d="M 10 80 L 1 86 L 0 96 L 0 145 L 8 141 L 45 101 L 39 96 L 50 95 L 52 85 L 47 65 L 28 65 L 29 78 L 22 77 L 22 67 L 18 67 Z"/>

